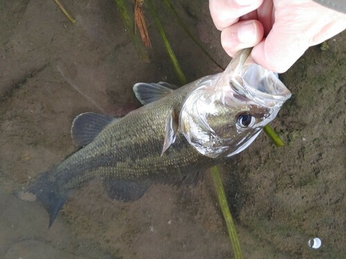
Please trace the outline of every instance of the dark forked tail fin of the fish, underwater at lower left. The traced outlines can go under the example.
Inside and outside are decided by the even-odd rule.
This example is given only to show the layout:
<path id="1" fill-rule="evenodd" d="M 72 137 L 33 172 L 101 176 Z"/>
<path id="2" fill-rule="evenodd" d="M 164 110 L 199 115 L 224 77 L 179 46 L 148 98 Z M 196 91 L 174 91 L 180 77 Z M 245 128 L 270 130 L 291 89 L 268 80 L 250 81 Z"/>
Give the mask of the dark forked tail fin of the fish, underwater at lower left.
<path id="1" fill-rule="evenodd" d="M 29 193 L 36 195 L 37 200 L 44 205 L 49 214 L 49 227 L 53 224 L 57 213 L 69 198 L 69 193 L 64 191 L 59 182 L 54 178 L 53 171 L 47 171 L 31 184 Z"/>

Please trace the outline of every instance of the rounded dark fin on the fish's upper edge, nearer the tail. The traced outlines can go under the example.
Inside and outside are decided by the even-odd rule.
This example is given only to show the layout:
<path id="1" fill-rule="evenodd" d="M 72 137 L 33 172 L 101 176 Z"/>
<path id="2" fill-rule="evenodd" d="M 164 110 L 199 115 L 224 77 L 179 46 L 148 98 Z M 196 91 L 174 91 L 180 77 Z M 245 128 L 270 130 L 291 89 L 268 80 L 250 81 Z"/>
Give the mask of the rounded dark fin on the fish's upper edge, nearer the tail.
<path id="1" fill-rule="evenodd" d="M 83 147 L 95 140 L 105 126 L 113 122 L 115 117 L 98 113 L 81 113 L 73 119 L 71 136 L 73 143 Z"/>

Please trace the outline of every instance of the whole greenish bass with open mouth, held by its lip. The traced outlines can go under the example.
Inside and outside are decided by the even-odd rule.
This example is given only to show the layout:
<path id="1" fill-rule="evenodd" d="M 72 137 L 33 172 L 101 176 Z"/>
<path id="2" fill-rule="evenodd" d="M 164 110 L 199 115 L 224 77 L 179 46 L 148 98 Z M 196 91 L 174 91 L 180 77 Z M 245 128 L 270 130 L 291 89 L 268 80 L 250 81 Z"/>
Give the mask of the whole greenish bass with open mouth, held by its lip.
<path id="1" fill-rule="evenodd" d="M 75 117 L 78 151 L 26 189 L 48 211 L 49 227 L 73 190 L 95 177 L 110 198 L 133 202 L 152 184 L 196 184 L 206 169 L 248 147 L 291 97 L 274 73 L 247 61 L 249 53 L 181 88 L 135 84 L 143 106 L 124 117 Z"/>

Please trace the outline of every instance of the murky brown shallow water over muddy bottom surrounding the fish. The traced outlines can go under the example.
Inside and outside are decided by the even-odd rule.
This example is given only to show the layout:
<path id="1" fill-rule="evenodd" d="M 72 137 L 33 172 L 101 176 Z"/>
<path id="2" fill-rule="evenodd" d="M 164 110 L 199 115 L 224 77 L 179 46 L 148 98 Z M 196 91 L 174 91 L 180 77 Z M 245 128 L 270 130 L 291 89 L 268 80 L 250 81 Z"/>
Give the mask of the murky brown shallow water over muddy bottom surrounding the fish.
<path id="1" fill-rule="evenodd" d="M 157 4 L 188 81 L 219 72 Z M 0 3 L 0 258 L 232 258 L 208 174 L 196 188 L 156 185 L 126 204 L 109 200 L 94 180 L 75 191 L 50 229 L 38 202 L 12 195 L 75 151 L 70 127 L 79 113 L 124 115 L 140 106 L 136 82 L 179 84 L 150 19 L 146 64 L 113 1 L 64 6 L 76 23 L 54 1 Z M 176 8 L 226 66 L 208 3 Z M 345 255 L 345 40 L 343 32 L 311 48 L 282 75 L 293 97 L 272 126 L 286 146 L 261 135 L 223 166 L 245 258 Z M 316 237 L 322 244 L 311 249 Z"/>

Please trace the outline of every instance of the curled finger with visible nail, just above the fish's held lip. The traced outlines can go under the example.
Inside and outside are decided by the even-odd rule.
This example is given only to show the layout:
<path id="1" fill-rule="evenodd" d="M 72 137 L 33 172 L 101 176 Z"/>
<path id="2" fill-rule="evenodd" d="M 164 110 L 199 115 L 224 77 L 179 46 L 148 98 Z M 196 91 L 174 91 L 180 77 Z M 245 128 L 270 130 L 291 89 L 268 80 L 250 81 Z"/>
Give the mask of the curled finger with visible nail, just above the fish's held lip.
<path id="1" fill-rule="evenodd" d="M 227 54 L 234 57 L 243 48 L 251 48 L 263 39 L 263 26 L 260 21 L 239 21 L 221 32 L 221 44 Z"/>

